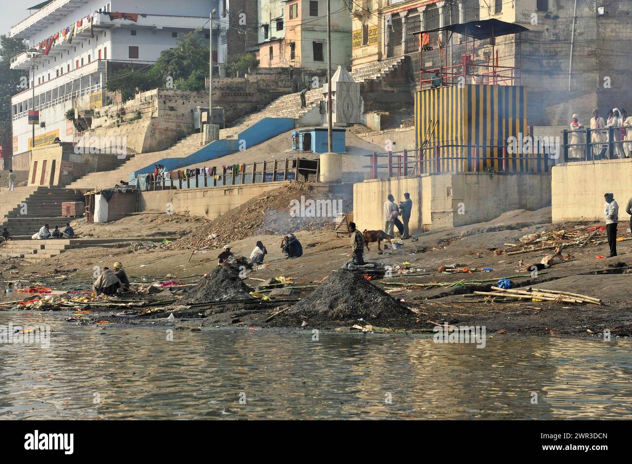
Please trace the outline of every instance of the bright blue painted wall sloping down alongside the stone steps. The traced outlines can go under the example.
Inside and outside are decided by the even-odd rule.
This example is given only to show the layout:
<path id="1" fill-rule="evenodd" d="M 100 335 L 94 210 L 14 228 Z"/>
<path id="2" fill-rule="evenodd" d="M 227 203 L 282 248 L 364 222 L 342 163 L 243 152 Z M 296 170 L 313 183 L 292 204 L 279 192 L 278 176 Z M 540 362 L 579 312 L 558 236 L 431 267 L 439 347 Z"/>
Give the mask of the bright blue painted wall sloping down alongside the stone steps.
<path id="1" fill-rule="evenodd" d="M 237 152 L 240 149 L 240 142 L 242 140 L 244 142 L 241 143 L 245 143 L 246 148 L 251 148 L 293 128 L 294 119 L 290 117 L 265 117 L 244 131 L 241 131 L 236 139 L 212 141 L 209 145 L 204 146 L 204 148 L 201 148 L 197 152 L 191 153 L 191 155 L 185 158 L 163 158 L 154 164 L 145 166 L 130 174 L 130 181 L 140 174 L 150 174 L 150 172 L 154 172 L 155 164 L 162 164 L 167 170 L 180 169 L 191 164 L 203 163 Z"/>

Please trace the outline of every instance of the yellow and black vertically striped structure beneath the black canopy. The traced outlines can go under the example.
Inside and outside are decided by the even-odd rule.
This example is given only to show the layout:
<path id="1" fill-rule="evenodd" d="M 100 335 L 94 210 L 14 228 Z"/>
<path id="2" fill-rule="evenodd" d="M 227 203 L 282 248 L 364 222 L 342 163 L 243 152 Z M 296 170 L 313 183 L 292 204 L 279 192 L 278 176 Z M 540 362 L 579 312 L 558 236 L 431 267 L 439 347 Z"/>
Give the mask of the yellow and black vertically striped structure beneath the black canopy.
<path id="1" fill-rule="evenodd" d="M 502 170 L 502 147 L 526 136 L 526 88 L 509 85 L 443 86 L 415 92 L 415 141 L 423 172 Z M 438 153 L 437 153 L 438 151 Z M 509 153 L 509 172 L 548 172 L 544 154 Z M 476 160 L 476 162 L 475 162 Z"/>

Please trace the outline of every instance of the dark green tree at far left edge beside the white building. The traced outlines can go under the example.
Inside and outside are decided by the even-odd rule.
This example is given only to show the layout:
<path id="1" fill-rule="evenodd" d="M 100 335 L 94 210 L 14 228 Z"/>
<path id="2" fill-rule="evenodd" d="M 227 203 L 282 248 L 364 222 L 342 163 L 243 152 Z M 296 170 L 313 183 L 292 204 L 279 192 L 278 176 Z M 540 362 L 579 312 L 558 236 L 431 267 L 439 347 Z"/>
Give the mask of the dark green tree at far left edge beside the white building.
<path id="1" fill-rule="evenodd" d="M 11 69 L 11 58 L 25 50 L 27 44 L 23 40 L 0 35 L 0 145 L 4 147 L 12 146 L 11 96 L 23 90 L 24 83 L 28 84 L 28 71 Z"/>

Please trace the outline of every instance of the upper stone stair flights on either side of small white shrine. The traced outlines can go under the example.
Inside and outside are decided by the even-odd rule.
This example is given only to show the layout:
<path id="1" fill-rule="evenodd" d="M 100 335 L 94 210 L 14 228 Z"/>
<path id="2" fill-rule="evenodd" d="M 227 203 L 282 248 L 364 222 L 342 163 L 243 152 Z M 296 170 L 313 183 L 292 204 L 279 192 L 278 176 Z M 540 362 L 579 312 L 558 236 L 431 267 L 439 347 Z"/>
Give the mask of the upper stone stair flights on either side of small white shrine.
<path id="1" fill-rule="evenodd" d="M 356 69 L 351 71 L 350 74 L 358 83 L 384 79 L 389 73 L 394 71 L 394 69 L 401 66 L 404 59 L 405 58 L 403 56 L 399 56 L 384 61 L 358 66 Z M 319 105 L 319 102 L 322 99 L 322 87 L 313 88 L 305 94 L 305 107 L 301 107 L 302 102 L 300 92 L 283 95 L 283 97 L 277 98 L 263 110 L 250 114 L 249 116 L 246 116 L 245 119 L 238 121 L 236 126 L 219 131 L 219 138 L 234 138 L 238 133 L 252 126 L 255 122 L 261 121 L 264 117 L 291 117 L 293 119 L 300 119 L 305 116 L 308 111 Z"/>

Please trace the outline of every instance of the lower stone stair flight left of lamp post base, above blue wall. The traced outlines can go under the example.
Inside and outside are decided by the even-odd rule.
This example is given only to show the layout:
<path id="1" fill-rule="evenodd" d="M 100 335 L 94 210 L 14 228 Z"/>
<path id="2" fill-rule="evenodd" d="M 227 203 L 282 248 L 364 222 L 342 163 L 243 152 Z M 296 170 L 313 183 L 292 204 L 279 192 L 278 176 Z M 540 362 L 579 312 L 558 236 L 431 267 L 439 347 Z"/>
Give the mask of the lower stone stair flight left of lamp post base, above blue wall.
<path id="1" fill-rule="evenodd" d="M 163 158 L 185 158 L 196 152 L 202 145 L 202 134 L 191 134 L 179 140 L 167 150 L 160 152 L 138 153 L 117 169 L 107 172 L 92 172 L 84 175 L 67 186 L 69 189 L 99 189 L 115 186 L 121 181 L 128 182 L 130 174 L 143 167 L 155 164 Z"/>

